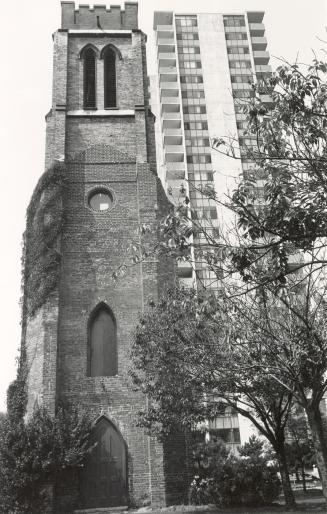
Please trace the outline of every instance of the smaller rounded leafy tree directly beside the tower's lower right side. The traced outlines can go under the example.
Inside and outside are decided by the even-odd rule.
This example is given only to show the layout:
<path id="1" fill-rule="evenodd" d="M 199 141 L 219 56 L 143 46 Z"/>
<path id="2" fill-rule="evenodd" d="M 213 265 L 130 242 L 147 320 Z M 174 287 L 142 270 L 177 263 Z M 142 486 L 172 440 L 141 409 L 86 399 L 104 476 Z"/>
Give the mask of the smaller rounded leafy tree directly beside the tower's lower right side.
<path id="1" fill-rule="evenodd" d="M 257 356 L 261 364 L 261 341 L 233 348 L 233 338 L 241 337 L 239 313 L 221 307 L 217 310 L 213 295 L 175 288 L 142 316 L 131 370 L 135 384 L 150 398 L 140 423 L 160 433 L 181 425 L 194 428 L 230 405 L 275 449 L 286 503 L 294 506 L 284 444 L 292 392 L 275 377 L 262 377 L 254 362 Z"/>

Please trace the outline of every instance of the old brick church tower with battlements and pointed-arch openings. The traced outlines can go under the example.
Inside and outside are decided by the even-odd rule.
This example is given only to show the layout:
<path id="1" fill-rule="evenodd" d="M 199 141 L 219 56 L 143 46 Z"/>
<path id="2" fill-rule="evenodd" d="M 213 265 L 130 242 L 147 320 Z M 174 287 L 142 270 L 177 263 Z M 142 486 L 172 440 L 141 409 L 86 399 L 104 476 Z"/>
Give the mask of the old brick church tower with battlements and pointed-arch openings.
<path id="1" fill-rule="evenodd" d="M 62 403 L 81 407 L 98 444 L 82 479 L 53 488 L 51 512 L 66 512 L 69 501 L 79 509 L 165 505 L 182 490 L 172 445 L 136 425 L 146 399 L 128 378 L 139 314 L 174 268 L 152 256 L 114 277 L 140 243 L 140 226 L 170 208 L 156 175 L 137 10 L 134 2 L 124 10 L 62 2 L 53 36 L 46 172 L 27 213 L 27 414 L 35 402 L 51 413 Z"/>

